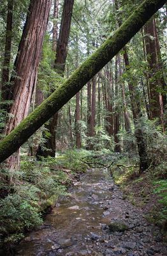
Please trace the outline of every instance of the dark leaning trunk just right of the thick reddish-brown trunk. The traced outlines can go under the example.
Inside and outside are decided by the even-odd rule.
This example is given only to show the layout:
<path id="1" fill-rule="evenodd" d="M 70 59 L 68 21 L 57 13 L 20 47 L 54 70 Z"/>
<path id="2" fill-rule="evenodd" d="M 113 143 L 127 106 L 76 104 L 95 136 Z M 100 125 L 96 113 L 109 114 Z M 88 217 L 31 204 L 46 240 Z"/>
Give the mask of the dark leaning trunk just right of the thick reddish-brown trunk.
<path id="1" fill-rule="evenodd" d="M 67 47 L 68 47 L 68 39 L 69 32 L 71 28 L 71 17 L 73 13 L 73 4 L 74 0 L 64 0 L 62 17 L 61 17 L 61 28 L 59 33 L 59 39 L 57 42 L 56 54 L 55 54 L 55 63 L 54 68 L 58 74 L 62 77 L 64 76 L 64 69 L 67 57 Z M 52 91 L 54 92 L 54 91 Z M 57 129 L 57 120 L 59 118 L 59 113 L 55 113 L 55 115 L 50 120 L 50 124 L 47 125 L 47 129 L 50 132 L 50 137 L 45 138 L 45 148 L 43 152 L 40 150 L 39 154 L 42 156 L 55 156 L 55 132 Z"/>

